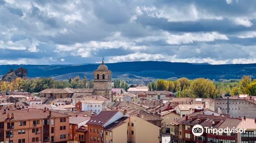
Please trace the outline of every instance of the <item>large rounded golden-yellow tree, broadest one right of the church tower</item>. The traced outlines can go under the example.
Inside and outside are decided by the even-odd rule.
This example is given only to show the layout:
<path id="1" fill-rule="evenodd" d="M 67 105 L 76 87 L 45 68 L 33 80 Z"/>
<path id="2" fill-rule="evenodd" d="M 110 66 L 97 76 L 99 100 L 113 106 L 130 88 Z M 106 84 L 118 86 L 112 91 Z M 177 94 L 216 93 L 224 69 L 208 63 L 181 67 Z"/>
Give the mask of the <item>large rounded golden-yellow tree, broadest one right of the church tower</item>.
<path id="1" fill-rule="evenodd" d="M 214 82 L 204 78 L 195 79 L 191 82 L 189 90 L 196 98 L 218 97 L 218 90 L 216 89 Z"/>

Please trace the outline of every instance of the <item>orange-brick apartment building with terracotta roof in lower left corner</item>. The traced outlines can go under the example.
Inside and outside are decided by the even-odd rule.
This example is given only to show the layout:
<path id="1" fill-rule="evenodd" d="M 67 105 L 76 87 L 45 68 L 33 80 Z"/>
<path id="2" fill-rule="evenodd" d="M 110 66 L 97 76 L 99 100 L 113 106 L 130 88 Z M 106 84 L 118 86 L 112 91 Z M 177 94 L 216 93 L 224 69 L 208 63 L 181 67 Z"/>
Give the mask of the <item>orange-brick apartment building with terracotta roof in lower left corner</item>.
<path id="1" fill-rule="evenodd" d="M 1 111 L 1 143 L 68 141 L 69 130 L 66 127 L 69 127 L 69 115 L 46 108 Z"/>

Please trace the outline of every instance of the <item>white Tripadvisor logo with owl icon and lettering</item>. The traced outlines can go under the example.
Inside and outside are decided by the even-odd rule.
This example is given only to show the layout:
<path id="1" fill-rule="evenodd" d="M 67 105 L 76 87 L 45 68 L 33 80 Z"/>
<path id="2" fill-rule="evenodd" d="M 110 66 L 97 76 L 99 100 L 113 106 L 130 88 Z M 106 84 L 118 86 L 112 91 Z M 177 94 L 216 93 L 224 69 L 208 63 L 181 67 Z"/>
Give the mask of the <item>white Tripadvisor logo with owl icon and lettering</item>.
<path id="1" fill-rule="evenodd" d="M 201 125 L 195 125 L 192 128 L 192 133 L 195 136 L 201 136 L 203 133 L 210 133 L 210 134 L 216 134 L 216 133 L 245 133 L 246 129 L 238 129 L 238 128 L 220 128 L 220 129 L 216 129 L 216 128 L 212 128 L 212 127 L 202 127 Z"/>

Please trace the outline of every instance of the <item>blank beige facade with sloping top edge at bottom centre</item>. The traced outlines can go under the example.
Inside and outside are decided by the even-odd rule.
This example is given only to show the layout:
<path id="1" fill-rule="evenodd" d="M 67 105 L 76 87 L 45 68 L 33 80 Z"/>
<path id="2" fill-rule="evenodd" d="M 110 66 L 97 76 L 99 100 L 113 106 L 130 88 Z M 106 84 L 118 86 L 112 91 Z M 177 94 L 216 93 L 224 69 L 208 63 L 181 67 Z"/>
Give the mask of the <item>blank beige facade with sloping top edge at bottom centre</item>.
<path id="1" fill-rule="evenodd" d="M 137 116 L 130 116 L 125 122 L 127 122 L 127 142 L 156 143 L 160 141 L 161 128 Z"/>

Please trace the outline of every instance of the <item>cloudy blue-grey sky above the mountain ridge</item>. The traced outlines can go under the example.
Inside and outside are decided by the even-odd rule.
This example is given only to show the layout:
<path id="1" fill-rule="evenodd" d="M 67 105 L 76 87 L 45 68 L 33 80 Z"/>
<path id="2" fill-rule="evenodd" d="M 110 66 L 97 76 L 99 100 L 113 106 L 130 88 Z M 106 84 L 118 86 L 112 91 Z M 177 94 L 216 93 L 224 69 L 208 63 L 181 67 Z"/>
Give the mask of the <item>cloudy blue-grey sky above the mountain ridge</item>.
<path id="1" fill-rule="evenodd" d="M 256 2 L 0 0 L 0 64 L 256 63 Z"/>

